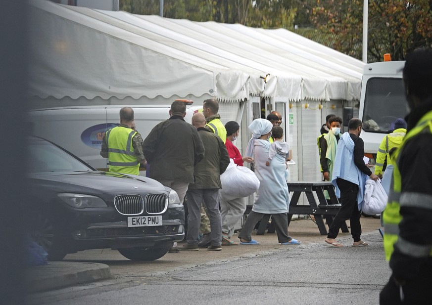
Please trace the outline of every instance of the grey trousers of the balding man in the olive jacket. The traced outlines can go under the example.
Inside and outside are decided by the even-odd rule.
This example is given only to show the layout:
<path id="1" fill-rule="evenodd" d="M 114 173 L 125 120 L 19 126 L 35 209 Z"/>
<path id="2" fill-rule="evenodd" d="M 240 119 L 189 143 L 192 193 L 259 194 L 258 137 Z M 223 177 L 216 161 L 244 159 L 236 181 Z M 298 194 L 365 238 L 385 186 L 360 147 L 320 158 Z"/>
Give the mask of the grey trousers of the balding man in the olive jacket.
<path id="1" fill-rule="evenodd" d="M 210 240 L 212 246 L 222 244 L 222 220 L 219 211 L 217 188 L 190 189 L 188 196 L 188 233 L 186 241 L 189 245 L 198 244 L 199 226 L 201 224 L 201 204 L 204 201 L 210 218 Z"/>

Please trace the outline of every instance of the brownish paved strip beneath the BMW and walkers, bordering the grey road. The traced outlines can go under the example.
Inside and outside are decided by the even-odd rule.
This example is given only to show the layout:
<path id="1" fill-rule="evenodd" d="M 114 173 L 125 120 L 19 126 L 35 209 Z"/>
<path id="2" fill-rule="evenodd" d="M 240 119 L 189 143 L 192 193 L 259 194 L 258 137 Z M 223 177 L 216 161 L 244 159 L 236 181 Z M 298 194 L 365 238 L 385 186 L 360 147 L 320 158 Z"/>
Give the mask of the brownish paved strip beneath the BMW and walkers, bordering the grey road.
<path id="1" fill-rule="evenodd" d="M 349 227 L 349 221 L 347 224 Z M 378 238 L 380 219 L 362 217 L 361 224 L 365 236 L 362 238 L 364 241 L 367 242 L 368 237 L 380 240 Z M 310 218 L 291 220 L 289 235 L 301 241 L 300 246 L 317 244 L 326 246 L 324 242 L 326 236 L 320 235 L 317 225 Z M 299 247 L 279 244 L 276 233 L 253 234 L 253 238 L 260 245 L 223 246 L 222 251 L 199 249 L 199 251 L 168 253 L 157 261 L 149 262 L 129 261 L 116 250 L 111 249 L 81 251 L 67 255 L 63 261 L 51 261 L 47 265 L 29 267 L 27 283 L 30 292 L 49 291 L 99 280 L 119 279 L 135 274 L 157 275 L 176 270 L 188 270 L 200 265 L 217 264 L 223 261 L 264 257 L 287 250 L 287 247 Z M 232 239 L 238 241 L 237 235 L 234 235 Z M 337 239 L 341 240 L 344 246 L 351 246 L 352 239 L 350 239 L 349 233 L 340 232 Z M 179 243 L 179 247 L 184 243 Z"/>

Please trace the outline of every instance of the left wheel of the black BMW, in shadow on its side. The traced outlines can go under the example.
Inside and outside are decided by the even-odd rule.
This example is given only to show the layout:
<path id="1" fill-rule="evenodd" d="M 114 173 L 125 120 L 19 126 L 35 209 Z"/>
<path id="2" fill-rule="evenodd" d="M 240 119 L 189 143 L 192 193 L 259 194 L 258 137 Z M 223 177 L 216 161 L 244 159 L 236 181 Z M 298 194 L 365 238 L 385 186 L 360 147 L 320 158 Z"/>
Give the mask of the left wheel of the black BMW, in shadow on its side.
<path id="1" fill-rule="evenodd" d="M 61 261 L 67 254 L 59 245 L 52 221 L 42 213 L 36 213 L 31 219 L 32 239 L 48 253 L 48 261 Z"/>

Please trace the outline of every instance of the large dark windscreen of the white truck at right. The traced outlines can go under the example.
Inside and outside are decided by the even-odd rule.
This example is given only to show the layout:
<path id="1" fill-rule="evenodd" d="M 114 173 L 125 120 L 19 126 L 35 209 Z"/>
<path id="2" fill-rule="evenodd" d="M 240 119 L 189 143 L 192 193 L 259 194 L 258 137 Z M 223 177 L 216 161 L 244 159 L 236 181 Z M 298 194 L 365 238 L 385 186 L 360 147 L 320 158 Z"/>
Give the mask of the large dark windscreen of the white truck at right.
<path id="1" fill-rule="evenodd" d="M 371 78 L 366 84 L 363 129 L 388 133 L 391 123 L 407 115 L 405 89 L 400 78 Z"/>

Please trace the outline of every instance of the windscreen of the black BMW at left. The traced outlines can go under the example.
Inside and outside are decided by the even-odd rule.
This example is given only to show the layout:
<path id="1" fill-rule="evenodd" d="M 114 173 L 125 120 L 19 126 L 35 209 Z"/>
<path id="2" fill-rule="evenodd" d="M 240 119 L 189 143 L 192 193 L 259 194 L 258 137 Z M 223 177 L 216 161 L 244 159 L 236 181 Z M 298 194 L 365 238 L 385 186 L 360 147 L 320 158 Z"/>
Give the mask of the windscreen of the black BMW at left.
<path id="1" fill-rule="evenodd" d="M 89 172 L 85 164 L 45 140 L 29 140 L 30 173 Z"/>

